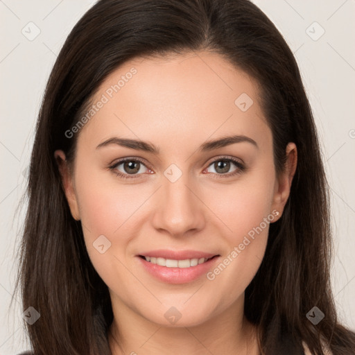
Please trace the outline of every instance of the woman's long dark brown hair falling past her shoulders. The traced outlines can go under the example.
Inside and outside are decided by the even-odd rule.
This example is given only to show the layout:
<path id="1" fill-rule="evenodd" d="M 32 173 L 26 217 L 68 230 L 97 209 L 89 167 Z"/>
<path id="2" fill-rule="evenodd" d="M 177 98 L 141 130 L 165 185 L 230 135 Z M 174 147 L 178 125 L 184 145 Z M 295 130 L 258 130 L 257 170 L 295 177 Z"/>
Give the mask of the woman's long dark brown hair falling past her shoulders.
<path id="1" fill-rule="evenodd" d="M 120 64 L 199 50 L 223 55 L 259 83 L 278 173 L 288 142 L 297 145 L 290 197 L 245 291 L 245 315 L 259 329 L 261 352 L 282 353 L 287 338 L 295 349 L 303 340 L 313 354 L 323 354 L 322 340 L 334 355 L 354 355 L 355 334 L 338 323 L 329 280 L 329 190 L 311 107 L 293 53 L 248 0 L 101 0 L 67 37 L 37 121 L 15 289 L 24 309 L 41 314 L 27 324 L 35 355 L 110 354 L 110 295 L 71 216 L 54 151 L 73 162 L 78 135 L 65 132 Z M 324 313 L 316 325 L 306 317 L 314 306 Z"/>

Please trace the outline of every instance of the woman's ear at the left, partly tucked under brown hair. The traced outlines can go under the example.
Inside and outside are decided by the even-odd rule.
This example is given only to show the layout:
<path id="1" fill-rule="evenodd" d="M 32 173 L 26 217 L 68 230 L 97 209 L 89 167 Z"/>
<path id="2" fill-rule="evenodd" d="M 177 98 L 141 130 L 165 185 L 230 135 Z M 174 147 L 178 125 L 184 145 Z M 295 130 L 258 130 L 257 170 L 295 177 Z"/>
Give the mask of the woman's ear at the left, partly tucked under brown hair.
<path id="1" fill-rule="evenodd" d="M 75 220 L 80 220 L 78 200 L 76 198 L 75 186 L 73 183 L 73 174 L 67 164 L 65 154 L 62 150 L 55 150 L 54 157 L 62 177 L 62 185 L 64 187 L 65 196 L 67 197 L 71 216 L 73 216 Z"/>

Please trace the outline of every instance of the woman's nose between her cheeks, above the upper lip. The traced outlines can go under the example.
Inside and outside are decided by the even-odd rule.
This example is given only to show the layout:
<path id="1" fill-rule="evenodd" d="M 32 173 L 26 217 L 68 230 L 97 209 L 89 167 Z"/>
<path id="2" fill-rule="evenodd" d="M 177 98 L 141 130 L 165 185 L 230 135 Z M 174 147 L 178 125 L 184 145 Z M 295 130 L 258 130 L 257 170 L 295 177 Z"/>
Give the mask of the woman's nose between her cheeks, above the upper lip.
<path id="1" fill-rule="evenodd" d="M 198 195 L 199 189 L 189 181 L 187 173 L 175 182 L 163 178 L 162 187 L 156 194 L 153 227 L 175 237 L 202 230 L 208 209 Z"/>

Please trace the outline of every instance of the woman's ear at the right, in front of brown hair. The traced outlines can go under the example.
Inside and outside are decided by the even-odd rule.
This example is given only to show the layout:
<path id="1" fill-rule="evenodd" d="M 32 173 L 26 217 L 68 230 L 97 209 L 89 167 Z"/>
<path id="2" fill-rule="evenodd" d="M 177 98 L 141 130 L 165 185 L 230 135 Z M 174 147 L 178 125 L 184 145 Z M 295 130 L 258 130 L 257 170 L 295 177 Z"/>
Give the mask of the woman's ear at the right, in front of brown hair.
<path id="1" fill-rule="evenodd" d="M 279 212 L 275 221 L 282 216 L 284 207 L 290 196 L 291 184 L 297 167 L 297 147 L 293 142 L 286 147 L 286 165 L 284 171 L 279 174 L 275 182 L 274 196 L 272 200 L 272 211 Z"/>

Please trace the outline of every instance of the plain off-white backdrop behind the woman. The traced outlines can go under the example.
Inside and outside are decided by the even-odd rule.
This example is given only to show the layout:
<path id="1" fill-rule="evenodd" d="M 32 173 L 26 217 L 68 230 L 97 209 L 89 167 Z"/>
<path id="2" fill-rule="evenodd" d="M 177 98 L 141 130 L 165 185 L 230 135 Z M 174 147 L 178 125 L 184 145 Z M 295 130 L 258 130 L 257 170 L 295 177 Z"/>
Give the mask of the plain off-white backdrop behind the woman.
<path id="1" fill-rule="evenodd" d="M 65 38 L 95 2 L 0 0 L 1 355 L 30 348 L 20 300 L 10 311 L 9 303 L 24 220 L 24 211 L 15 214 L 15 209 L 26 187 L 44 86 Z M 340 321 L 355 329 L 355 1 L 254 2 L 295 53 L 313 107 L 331 186 L 334 297 Z"/>

